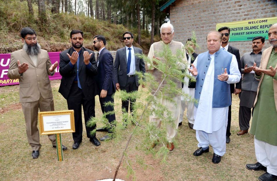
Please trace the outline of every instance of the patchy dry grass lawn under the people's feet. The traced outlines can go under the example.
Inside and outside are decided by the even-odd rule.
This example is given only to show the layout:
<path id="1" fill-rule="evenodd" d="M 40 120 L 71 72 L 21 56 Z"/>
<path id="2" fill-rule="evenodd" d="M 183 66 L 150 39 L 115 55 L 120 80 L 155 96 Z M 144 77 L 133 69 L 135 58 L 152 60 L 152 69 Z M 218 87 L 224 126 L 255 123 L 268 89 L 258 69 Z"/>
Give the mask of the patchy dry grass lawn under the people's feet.
<path id="1" fill-rule="evenodd" d="M 67 110 L 66 100 L 59 94 L 60 80 L 51 81 L 54 94 L 55 110 Z M 139 91 L 142 91 L 141 87 Z M 32 159 L 31 148 L 28 144 L 25 121 L 19 101 L 19 86 L 0 87 L 0 180 L 99 180 L 113 178 L 120 154 L 125 141 L 115 143 L 114 140 L 102 141 L 96 147 L 90 143 L 85 134 L 83 123 L 83 142 L 77 150 L 72 149 L 72 134 L 62 134 L 63 144 L 68 150 L 63 152 L 64 161 L 57 161 L 56 149 L 46 135 L 40 136 L 41 150 L 37 159 Z M 95 97 L 96 116 L 102 112 L 98 96 Z M 121 109 L 121 100 L 115 99 L 115 109 Z M 247 163 L 256 163 L 254 150 L 254 136 L 246 134 L 236 135 L 238 126 L 238 96 L 233 95 L 231 142 L 227 144 L 227 151 L 219 164 L 212 163 L 213 151 L 202 156 L 193 156 L 197 149 L 195 130 L 189 129 L 184 118 L 183 125 L 178 128 L 177 147 L 167 156 L 167 164 L 160 163 L 151 155 L 135 149 L 136 143 L 131 141 L 127 151 L 128 157 L 133 160 L 132 168 L 135 171 L 135 180 L 258 180 L 263 171 L 249 171 Z M 121 115 L 116 115 L 120 120 Z M 98 127 L 101 125 L 98 125 Z M 162 125 L 163 126 L 163 125 Z M 129 126 L 132 129 L 132 126 Z M 105 132 L 97 132 L 100 138 Z M 141 135 L 143 139 L 143 135 Z M 160 148 L 158 145 L 156 150 Z M 143 169 L 136 163 L 136 156 L 145 158 L 149 165 Z M 118 177 L 127 178 L 127 169 L 120 167 Z"/>

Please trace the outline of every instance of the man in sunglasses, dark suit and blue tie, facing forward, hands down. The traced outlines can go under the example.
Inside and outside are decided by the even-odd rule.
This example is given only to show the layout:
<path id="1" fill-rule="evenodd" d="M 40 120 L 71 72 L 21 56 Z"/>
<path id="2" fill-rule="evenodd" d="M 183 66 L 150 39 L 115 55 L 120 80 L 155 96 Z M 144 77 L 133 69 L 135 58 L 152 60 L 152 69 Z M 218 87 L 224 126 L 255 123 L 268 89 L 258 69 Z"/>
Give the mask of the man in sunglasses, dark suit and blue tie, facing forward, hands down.
<path id="1" fill-rule="evenodd" d="M 142 54 L 140 48 L 134 47 L 133 41 L 134 36 L 130 32 L 123 34 L 123 40 L 125 46 L 116 51 L 114 60 L 114 79 L 116 90 L 125 90 L 126 92 L 133 92 L 139 89 L 138 76 L 135 75 L 137 72 L 145 73 L 145 64 L 143 59 L 135 56 L 135 53 Z M 142 85 L 144 87 L 144 85 Z M 135 102 L 136 100 L 134 100 Z M 130 102 L 130 112 L 133 112 L 133 102 L 122 101 L 122 111 L 128 112 Z"/>

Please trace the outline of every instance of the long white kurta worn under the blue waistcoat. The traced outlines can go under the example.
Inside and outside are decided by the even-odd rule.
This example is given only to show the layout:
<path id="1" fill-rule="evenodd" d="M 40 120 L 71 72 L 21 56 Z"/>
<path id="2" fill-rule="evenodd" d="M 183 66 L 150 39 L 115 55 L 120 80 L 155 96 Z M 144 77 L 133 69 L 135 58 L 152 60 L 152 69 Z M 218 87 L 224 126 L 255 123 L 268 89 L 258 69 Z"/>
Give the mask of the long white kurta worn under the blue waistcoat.
<path id="1" fill-rule="evenodd" d="M 194 126 L 195 130 L 202 130 L 206 133 L 213 133 L 219 130 L 223 124 L 226 122 L 226 115 L 228 114 L 228 107 L 213 108 L 213 90 L 214 90 L 214 55 L 210 55 L 211 61 L 207 74 L 205 76 L 205 81 L 201 91 L 201 96 L 199 99 L 198 108 L 194 109 Z M 194 61 L 194 66 L 197 68 L 196 57 Z M 224 71 L 224 70 L 223 70 Z M 238 70 L 238 63 L 236 61 L 236 56 L 233 55 L 232 61 L 229 68 L 229 79 L 226 81 L 228 84 L 236 83 L 240 80 L 240 72 Z"/>

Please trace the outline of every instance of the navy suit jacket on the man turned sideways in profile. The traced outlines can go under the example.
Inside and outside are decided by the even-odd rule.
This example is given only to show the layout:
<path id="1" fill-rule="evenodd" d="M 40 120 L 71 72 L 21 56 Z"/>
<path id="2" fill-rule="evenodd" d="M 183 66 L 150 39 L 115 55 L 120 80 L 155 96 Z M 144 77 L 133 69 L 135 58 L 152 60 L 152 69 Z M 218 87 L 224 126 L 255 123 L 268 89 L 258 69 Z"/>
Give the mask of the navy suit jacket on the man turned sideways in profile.
<path id="1" fill-rule="evenodd" d="M 115 80 L 114 80 L 114 58 L 110 51 L 104 48 L 98 56 L 98 74 L 96 75 L 96 83 L 98 86 L 98 92 L 102 89 L 107 90 L 107 94 L 113 94 L 115 92 Z"/>

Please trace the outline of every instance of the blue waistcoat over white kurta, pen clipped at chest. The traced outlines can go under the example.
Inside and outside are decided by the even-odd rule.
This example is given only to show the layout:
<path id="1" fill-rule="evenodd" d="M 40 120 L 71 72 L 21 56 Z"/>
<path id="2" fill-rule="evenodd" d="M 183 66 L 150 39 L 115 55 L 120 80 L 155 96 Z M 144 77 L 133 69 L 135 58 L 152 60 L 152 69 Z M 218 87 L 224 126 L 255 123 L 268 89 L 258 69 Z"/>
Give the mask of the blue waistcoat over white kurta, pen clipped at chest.
<path id="1" fill-rule="evenodd" d="M 212 107 L 228 107 L 232 104 L 230 85 L 227 82 L 220 81 L 217 76 L 223 73 L 223 70 L 227 68 L 229 74 L 230 64 L 232 61 L 232 54 L 219 49 L 214 55 L 214 91 L 213 91 L 213 102 Z M 209 68 L 211 58 L 209 52 L 204 52 L 198 55 L 197 59 L 197 81 L 194 98 L 199 102 L 202 87 L 205 81 L 205 76 Z M 198 107 L 198 102 L 194 103 L 195 107 Z"/>

